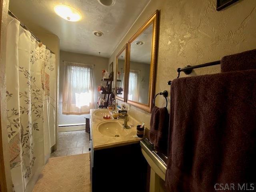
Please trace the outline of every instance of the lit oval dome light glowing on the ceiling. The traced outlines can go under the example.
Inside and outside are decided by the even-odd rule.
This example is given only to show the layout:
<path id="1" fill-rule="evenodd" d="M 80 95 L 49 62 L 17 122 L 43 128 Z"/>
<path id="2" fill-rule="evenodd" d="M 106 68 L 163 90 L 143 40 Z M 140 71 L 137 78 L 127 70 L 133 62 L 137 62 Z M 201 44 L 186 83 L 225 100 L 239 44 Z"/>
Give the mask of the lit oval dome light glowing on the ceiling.
<path id="1" fill-rule="evenodd" d="M 67 5 L 57 5 L 54 7 L 54 11 L 58 16 L 67 21 L 79 21 L 82 16 L 78 10 Z"/>

